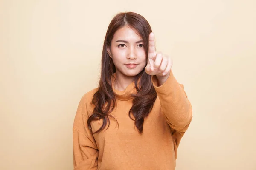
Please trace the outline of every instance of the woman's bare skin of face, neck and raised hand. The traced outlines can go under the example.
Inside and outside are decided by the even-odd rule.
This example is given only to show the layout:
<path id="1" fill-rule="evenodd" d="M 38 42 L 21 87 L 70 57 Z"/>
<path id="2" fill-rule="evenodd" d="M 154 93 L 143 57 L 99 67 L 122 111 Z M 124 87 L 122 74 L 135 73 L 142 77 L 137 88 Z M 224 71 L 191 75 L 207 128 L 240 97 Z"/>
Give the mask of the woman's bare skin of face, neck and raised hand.
<path id="1" fill-rule="evenodd" d="M 157 76 L 158 85 L 160 86 L 169 77 L 172 68 L 172 59 L 161 52 L 155 51 L 153 33 L 149 34 L 147 59 L 141 37 L 129 26 L 124 26 L 116 31 L 107 52 L 116 67 L 115 88 L 119 91 L 125 90 L 133 81 L 133 77 L 144 68 L 147 74 Z M 127 64 L 130 63 L 137 65 L 134 68 L 129 68 Z"/>

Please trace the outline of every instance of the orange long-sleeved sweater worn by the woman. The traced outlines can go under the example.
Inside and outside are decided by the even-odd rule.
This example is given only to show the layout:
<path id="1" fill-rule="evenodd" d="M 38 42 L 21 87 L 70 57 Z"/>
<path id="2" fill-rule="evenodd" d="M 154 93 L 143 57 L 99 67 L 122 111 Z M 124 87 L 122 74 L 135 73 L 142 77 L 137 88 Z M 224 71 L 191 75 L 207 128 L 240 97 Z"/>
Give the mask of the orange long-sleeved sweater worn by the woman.
<path id="1" fill-rule="evenodd" d="M 114 74 L 114 77 L 116 74 Z M 144 119 L 143 134 L 134 128 L 128 116 L 134 92 L 134 82 L 125 91 L 114 90 L 116 109 L 107 130 L 92 134 L 87 127 L 92 114 L 90 104 L 97 88 L 87 92 L 79 102 L 73 125 L 74 170 L 174 170 L 177 147 L 192 120 L 192 107 L 184 86 L 172 74 L 166 82 L 157 86 L 157 77 L 151 81 L 157 99 L 148 117 Z M 125 95 L 126 94 L 126 95 Z M 93 121 L 92 129 L 101 127 L 101 121 Z"/>

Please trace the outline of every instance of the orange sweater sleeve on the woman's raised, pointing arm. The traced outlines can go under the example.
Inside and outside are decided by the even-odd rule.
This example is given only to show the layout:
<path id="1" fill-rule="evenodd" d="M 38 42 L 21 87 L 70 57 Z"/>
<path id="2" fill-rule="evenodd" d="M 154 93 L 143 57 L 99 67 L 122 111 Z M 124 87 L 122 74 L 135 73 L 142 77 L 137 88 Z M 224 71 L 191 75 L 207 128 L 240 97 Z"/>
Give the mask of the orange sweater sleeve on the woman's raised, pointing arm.
<path id="1" fill-rule="evenodd" d="M 177 147 L 192 121 L 192 106 L 184 86 L 175 79 L 172 70 L 166 82 L 158 86 L 157 77 L 151 77 L 153 86 L 160 100 L 166 122 L 169 124 Z"/>

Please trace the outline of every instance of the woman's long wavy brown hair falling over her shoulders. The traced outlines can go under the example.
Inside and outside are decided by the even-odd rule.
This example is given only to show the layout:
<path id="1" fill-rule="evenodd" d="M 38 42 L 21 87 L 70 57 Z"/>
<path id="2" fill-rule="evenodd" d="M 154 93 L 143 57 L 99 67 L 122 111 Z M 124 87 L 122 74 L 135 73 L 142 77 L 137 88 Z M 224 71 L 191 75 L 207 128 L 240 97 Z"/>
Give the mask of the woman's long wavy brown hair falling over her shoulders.
<path id="1" fill-rule="evenodd" d="M 112 58 L 107 53 L 107 47 L 111 45 L 111 40 L 113 39 L 115 32 L 124 26 L 130 26 L 135 31 L 137 31 L 137 34 L 139 34 L 140 37 L 142 37 L 145 54 L 148 56 L 148 36 L 152 32 L 148 21 L 140 14 L 134 12 L 116 14 L 116 16 L 111 20 L 105 36 L 102 50 L 102 65 L 99 88 L 98 91 L 96 91 L 96 93 L 93 95 L 93 100 L 91 101 L 91 104 L 93 104 L 95 107 L 93 109 L 93 114 L 87 120 L 87 124 L 90 130 L 92 130 L 92 121 L 99 119 L 103 120 L 103 124 L 99 130 L 93 133 L 102 131 L 105 129 L 107 124 L 109 127 L 109 117 L 115 119 L 109 113 L 111 113 L 116 106 L 116 98 L 112 89 L 111 82 L 111 76 L 113 76 L 113 74 L 116 72 L 116 68 L 113 64 Z M 132 94 L 133 105 L 129 111 L 129 117 L 133 119 L 131 114 L 134 116 L 134 124 L 141 134 L 143 132 L 144 118 L 150 113 L 155 99 L 157 98 L 157 93 L 152 85 L 151 76 L 145 72 L 145 69 L 143 69 L 134 77 L 134 83 L 137 94 Z"/>

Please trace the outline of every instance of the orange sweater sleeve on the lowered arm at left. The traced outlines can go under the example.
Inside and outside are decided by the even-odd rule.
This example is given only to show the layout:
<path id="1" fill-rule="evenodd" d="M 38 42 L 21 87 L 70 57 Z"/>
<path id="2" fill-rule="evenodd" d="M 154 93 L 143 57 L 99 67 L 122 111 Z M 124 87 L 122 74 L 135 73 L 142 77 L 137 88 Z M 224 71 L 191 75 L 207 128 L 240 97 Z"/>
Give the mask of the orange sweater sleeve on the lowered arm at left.
<path id="1" fill-rule="evenodd" d="M 85 95 L 79 102 L 73 124 L 73 164 L 74 170 L 96 170 L 99 150 L 88 129 L 88 109 Z"/>

